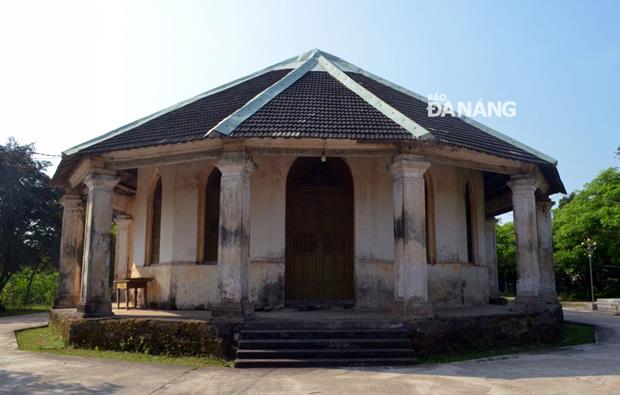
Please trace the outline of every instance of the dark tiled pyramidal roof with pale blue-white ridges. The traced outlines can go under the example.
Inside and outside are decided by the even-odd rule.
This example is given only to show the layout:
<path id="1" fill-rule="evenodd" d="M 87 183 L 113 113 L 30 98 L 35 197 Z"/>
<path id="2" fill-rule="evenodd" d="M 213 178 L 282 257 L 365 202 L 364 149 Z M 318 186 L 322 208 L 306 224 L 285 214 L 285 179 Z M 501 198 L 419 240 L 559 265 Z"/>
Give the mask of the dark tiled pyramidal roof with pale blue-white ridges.
<path id="1" fill-rule="evenodd" d="M 326 138 L 440 143 L 553 165 L 521 143 L 456 117 L 429 117 L 422 98 L 314 50 L 68 151 L 90 154 L 222 138 Z M 478 127 L 480 126 L 480 127 Z"/>

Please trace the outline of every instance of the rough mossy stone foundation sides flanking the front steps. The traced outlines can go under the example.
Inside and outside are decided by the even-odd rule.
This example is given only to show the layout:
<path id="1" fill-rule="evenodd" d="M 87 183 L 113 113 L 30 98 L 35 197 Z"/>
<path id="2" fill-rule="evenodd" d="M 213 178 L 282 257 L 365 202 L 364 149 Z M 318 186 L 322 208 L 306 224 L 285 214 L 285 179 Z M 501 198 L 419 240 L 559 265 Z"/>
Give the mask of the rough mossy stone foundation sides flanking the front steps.
<path id="1" fill-rule="evenodd" d="M 286 320 L 294 320 L 294 315 L 291 313 Z M 78 348 L 224 359 L 234 358 L 243 325 L 222 319 L 80 318 L 75 310 L 68 309 L 52 310 L 49 322 L 66 344 Z M 562 322 L 562 310 L 555 309 L 536 314 L 440 317 L 410 321 L 407 325 L 416 354 L 427 356 L 551 342 L 558 337 Z"/>

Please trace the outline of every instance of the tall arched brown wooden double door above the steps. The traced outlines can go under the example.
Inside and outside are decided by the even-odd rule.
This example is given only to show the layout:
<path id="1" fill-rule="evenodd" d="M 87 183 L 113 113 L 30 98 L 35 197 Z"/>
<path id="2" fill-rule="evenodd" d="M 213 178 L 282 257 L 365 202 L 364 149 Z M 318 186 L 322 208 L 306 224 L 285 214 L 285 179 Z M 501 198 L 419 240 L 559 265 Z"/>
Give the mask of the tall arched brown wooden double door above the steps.
<path id="1" fill-rule="evenodd" d="M 287 179 L 286 299 L 352 303 L 353 185 L 341 159 L 300 158 Z"/>

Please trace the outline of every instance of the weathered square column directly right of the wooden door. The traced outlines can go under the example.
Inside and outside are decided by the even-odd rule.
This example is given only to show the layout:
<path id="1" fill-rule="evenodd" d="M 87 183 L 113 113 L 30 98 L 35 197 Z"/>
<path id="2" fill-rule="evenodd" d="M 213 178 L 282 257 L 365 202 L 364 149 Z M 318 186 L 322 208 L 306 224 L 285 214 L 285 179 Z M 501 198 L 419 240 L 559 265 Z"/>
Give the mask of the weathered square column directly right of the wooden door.
<path id="1" fill-rule="evenodd" d="M 430 164 L 414 155 L 398 155 L 394 176 L 395 311 L 410 318 L 432 317 L 428 301 L 424 172 Z"/>

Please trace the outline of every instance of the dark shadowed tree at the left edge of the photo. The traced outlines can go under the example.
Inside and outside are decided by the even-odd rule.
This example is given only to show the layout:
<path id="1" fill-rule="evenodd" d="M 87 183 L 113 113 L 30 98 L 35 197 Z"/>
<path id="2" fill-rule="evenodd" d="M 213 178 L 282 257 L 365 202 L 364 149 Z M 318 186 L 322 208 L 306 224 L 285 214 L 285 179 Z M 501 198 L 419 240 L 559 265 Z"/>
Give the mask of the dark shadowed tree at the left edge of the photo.
<path id="1" fill-rule="evenodd" d="M 57 266 L 59 191 L 34 158 L 34 145 L 10 138 L 0 145 L 0 292 L 24 267 Z"/>

